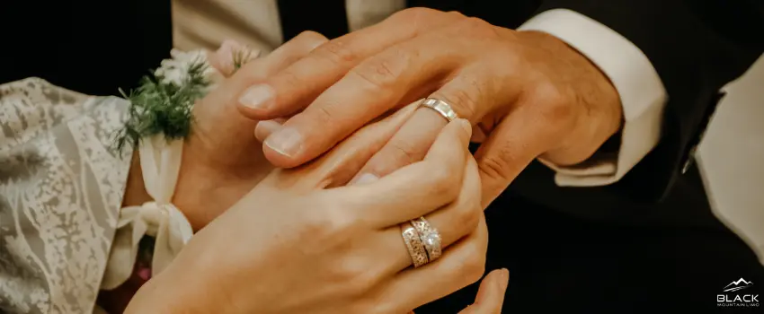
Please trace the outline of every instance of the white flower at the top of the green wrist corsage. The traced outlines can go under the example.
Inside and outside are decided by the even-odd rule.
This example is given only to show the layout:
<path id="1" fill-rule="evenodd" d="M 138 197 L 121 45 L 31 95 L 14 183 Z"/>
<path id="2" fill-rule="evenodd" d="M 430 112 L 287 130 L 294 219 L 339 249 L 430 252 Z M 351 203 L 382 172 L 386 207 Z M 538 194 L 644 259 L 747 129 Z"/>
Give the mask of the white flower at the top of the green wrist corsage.
<path id="1" fill-rule="evenodd" d="M 209 82 L 219 82 L 219 76 L 221 74 L 214 67 L 209 65 L 209 59 L 207 58 L 207 52 L 202 49 L 181 51 L 173 49 L 170 51 L 171 59 L 162 60 L 162 64 L 154 72 L 156 77 L 162 79 L 162 83 L 172 83 L 175 86 L 182 86 L 188 81 L 189 69 L 191 65 L 203 63 L 204 76 L 207 77 Z"/>

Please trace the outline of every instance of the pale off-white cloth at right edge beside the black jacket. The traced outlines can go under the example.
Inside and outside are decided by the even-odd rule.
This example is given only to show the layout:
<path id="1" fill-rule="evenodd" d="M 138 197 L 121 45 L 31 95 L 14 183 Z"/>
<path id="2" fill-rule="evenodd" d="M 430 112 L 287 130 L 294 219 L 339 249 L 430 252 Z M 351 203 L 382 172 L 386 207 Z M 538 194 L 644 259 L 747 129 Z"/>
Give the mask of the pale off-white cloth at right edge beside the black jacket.
<path id="1" fill-rule="evenodd" d="M 764 264 L 764 56 L 725 90 L 697 162 L 716 216 Z"/>

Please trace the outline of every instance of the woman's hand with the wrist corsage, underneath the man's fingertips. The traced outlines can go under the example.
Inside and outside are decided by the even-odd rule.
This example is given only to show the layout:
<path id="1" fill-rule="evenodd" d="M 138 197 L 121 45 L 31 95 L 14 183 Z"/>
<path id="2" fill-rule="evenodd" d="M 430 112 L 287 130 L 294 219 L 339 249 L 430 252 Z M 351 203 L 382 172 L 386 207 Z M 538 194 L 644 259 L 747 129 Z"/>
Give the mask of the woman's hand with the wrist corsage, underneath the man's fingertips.
<path id="1" fill-rule="evenodd" d="M 173 204 L 186 215 L 194 230 L 234 205 L 273 169 L 262 155 L 262 145 L 252 136 L 257 121 L 238 113 L 235 94 L 305 57 L 326 41 L 318 33 L 304 32 L 267 57 L 249 61 L 195 104 L 193 132 L 183 144 L 173 196 Z M 209 63 L 226 76 L 233 72 L 235 45 L 227 42 L 208 54 Z M 142 187 L 140 169 L 134 169 L 131 179 Z"/>

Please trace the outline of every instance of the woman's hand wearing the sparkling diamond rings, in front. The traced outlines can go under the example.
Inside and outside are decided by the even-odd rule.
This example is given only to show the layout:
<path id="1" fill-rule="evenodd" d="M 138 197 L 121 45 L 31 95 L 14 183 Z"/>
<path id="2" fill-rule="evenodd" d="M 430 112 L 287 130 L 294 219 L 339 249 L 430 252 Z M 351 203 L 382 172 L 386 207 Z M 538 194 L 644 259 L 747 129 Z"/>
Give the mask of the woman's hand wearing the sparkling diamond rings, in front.
<path id="1" fill-rule="evenodd" d="M 273 171 L 197 233 L 128 312 L 405 313 L 477 281 L 487 231 L 465 120 L 446 126 L 423 161 L 343 187 L 412 112 L 362 128 L 304 167 Z M 445 250 L 413 269 L 400 225 L 420 216 Z"/>

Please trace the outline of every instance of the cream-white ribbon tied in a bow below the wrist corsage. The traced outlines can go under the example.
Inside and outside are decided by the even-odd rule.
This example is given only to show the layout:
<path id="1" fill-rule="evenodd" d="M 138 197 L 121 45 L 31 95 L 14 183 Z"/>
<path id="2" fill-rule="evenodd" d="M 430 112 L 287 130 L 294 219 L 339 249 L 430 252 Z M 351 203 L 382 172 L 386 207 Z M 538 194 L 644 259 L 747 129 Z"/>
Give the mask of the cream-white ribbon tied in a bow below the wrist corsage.
<path id="1" fill-rule="evenodd" d="M 167 142 L 164 135 L 144 138 L 138 147 L 140 167 L 148 195 L 154 202 L 121 209 L 101 288 L 112 290 L 133 273 L 138 243 L 144 235 L 155 237 L 151 271 L 159 274 L 191 240 L 188 219 L 170 202 L 181 170 L 183 141 Z"/>

